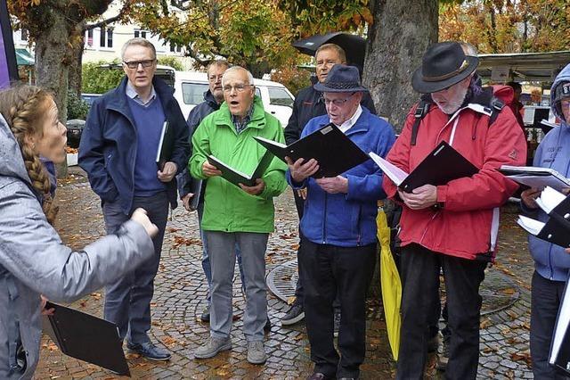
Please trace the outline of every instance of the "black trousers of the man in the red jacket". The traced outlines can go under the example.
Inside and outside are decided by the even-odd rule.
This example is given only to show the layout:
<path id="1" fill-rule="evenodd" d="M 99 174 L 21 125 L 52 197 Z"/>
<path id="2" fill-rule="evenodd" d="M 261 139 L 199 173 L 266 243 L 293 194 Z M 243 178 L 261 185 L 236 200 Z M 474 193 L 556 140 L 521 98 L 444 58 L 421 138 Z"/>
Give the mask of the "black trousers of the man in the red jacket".
<path id="1" fill-rule="evenodd" d="M 428 349 L 429 322 L 439 302 L 439 273 L 444 268 L 445 292 L 451 329 L 450 358 L 445 377 L 475 379 L 479 361 L 479 285 L 485 262 L 465 260 L 409 244 L 402 249 L 402 329 L 397 379 L 423 377 Z"/>

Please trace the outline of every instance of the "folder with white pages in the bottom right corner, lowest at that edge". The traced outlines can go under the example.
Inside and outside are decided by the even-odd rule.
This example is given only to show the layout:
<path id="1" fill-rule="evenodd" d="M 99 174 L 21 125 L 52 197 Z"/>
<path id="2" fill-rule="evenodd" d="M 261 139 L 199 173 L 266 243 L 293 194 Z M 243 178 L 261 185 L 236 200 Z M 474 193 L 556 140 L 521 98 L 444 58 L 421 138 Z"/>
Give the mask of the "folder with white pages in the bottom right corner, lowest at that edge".
<path id="1" fill-rule="evenodd" d="M 570 375 L 570 328 L 568 328 L 570 326 L 570 286 L 568 283 L 570 281 L 566 280 L 549 354 L 550 365 L 566 372 L 566 376 Z"/>

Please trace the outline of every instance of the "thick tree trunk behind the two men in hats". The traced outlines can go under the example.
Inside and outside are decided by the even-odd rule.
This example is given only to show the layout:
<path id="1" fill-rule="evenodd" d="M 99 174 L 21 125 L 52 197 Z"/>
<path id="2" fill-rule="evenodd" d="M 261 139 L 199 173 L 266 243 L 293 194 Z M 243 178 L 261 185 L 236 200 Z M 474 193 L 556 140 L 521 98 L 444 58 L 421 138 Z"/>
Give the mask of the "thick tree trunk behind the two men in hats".
<path id="1" fill-rule="evenodd" d="M 437 42 L 437 0 L 376 0 L 374 24 L 366 43 L 363 82 L 370 89 L 378 114 L 397 131 L 419 94 L 411 75 L 421 65 L 428 45 Z"/>

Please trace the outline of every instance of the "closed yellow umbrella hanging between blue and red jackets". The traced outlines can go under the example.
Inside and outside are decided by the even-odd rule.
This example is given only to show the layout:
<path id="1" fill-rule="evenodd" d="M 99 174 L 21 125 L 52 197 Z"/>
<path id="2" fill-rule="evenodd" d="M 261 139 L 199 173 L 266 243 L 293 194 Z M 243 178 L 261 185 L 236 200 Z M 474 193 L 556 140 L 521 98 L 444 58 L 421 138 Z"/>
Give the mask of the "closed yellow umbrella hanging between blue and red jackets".
<path id="1" fill-rule="evenodd" d="M 390 251 L 390 228 L 387 225 L 386 214 L 379 211 L 376 219 L 378 240 L 380 243 L 380 283 L 382 285 L 382 303 L 386 316 L 388 341 L 394 359 L 398 359 L 400 348 L 400 303 L 402 302 L 402 282 L 395 266 L 394 257 Z"/>

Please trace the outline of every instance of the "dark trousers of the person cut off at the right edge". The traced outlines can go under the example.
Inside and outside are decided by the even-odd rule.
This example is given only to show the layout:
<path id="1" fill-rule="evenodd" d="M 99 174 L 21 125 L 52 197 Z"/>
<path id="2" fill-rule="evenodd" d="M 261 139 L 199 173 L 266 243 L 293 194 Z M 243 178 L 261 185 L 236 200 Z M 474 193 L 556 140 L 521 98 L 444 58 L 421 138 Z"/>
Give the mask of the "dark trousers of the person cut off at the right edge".
<path id="1" fill-rule="evenodd" d="M 550 343 L 565 285 L 564 281 L 550 281 L 534 271 L 531 293 L 531 359 L 536 380 L 568 378 L 549 364 Z"/>

